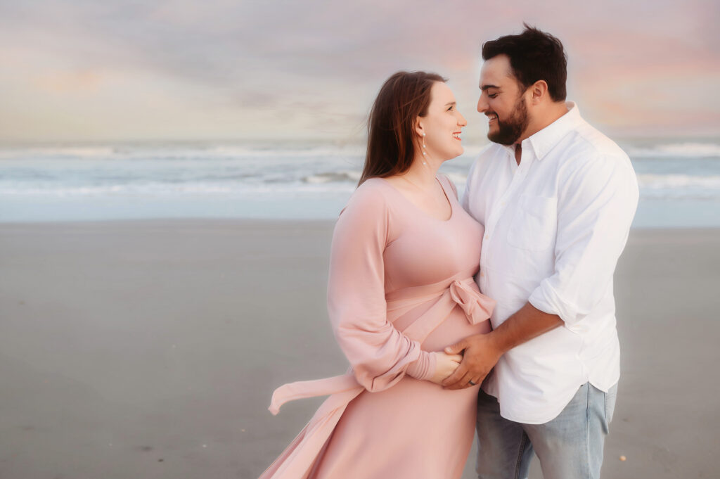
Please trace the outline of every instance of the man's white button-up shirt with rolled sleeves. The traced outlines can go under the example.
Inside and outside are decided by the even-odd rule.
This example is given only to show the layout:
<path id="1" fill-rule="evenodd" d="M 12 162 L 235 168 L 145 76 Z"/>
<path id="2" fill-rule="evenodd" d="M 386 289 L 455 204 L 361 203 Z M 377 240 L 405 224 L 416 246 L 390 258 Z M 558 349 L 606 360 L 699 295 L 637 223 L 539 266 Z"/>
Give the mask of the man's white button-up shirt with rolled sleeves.
<path id="1" fill-rule="evenodd" d="M 630 159 L 575 104 L 514 146 L 492 143 L 470 169 L 462 205 L 485 226 L 477 284 L 498 301 L 493 328 L 528 301 L 564 326 L 500 357 L 485 390 L 512 421 L 555 418 L 590 382 L 620 377 L 613 272 L 638 201 Z"/>

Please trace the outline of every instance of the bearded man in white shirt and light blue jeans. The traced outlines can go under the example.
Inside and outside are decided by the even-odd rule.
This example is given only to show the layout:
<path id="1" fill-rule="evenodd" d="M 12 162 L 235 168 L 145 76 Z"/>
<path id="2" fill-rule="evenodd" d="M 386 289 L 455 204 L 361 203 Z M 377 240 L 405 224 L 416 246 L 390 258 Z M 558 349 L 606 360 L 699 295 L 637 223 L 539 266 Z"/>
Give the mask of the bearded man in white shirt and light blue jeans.
<path id="1" fill-rule="evenodd" d="M 485 380 L 479 478 L 526 478 L 533 453 L 546 479 L 598 478 L 620 375 L 613 272 L 638 188 L 628 156 L 565 102 L 562 43 L 525 27 L 482 47 L 494 143 L 462 203 L 485 226 L 477 283 L 498 305 L 491 333 L 446 349 L 464 359 L 444 385 Z"/>

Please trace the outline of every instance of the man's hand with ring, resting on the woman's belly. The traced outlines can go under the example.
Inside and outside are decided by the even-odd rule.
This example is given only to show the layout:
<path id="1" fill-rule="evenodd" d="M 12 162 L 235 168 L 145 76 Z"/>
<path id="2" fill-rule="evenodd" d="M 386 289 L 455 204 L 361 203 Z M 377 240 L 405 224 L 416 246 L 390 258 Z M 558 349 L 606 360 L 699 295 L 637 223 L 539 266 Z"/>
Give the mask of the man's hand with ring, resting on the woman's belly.
<path id="1" fill-rule="evenodd" d="M 455 372 L 442 382 L 445 389 L 464 389 L 480 384 L 504 351 L 493 341 L 492 332 L 476 334 L 445 348 L 447 354 L 459 354 L 463 350 L 462 362 Z"/>

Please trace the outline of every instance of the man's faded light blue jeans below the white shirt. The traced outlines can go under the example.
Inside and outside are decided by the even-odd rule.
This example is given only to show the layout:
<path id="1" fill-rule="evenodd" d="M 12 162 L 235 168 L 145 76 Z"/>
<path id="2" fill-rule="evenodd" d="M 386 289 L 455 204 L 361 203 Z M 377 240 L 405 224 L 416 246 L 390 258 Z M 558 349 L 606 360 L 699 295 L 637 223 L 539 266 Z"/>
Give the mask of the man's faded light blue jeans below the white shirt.
<path id="1" fill-rule="evenodd" d="M 533 454 L 545 479 L 598 479 L 603 444 L 613 418 L 617 385 L 608 393 L 589 382 L 545 424 L 521 424 L 500 416 L 498 400 L 477 397 L 478 479 L 527 479 Z"/>

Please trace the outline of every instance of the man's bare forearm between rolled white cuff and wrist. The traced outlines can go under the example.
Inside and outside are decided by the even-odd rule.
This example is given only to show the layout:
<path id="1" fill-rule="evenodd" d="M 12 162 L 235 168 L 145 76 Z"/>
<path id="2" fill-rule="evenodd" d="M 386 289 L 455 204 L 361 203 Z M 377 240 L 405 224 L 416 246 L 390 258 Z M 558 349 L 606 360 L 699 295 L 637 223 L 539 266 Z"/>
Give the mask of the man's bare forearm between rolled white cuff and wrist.
<path id="1" fill-rule="evenodd" d="M 558 315 L 544 313 L 530 303 L 525 303 L 517 313 L 506 319 L 490 335 L 495 346 L 505 353 L 515 346 L 561 326 L 562 323 Z"/>

